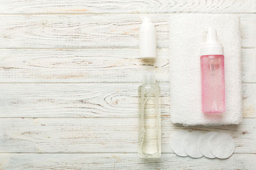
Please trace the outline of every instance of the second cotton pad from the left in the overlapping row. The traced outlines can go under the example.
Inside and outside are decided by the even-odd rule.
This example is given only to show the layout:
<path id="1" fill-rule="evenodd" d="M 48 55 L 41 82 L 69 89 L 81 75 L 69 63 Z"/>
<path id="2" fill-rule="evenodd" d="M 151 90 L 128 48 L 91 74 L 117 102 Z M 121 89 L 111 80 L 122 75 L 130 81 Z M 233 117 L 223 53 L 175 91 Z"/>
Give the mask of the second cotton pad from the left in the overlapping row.
<path id="1" fill-rule="evenodd" d="M 202 157 L 202 153 L 200 153 L 198 148 L 198 143 L 200 139 L 202 138 L 203 133 L 202 132 L 190 132 L 184 141 L 184 150 L 189 155 L 189 157 L 193 158 L 200 158 Z"/>

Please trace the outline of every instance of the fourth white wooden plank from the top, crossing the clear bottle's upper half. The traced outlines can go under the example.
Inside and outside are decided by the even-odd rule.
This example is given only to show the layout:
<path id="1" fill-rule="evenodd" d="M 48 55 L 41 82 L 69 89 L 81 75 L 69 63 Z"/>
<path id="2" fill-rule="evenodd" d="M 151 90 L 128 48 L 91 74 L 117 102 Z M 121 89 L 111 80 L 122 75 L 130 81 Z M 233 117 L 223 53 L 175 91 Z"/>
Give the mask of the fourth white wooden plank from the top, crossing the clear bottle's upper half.
<path id="1" fill-rule="evenodd" d="M 0 84 L 0 118 L 137 118 L 135 83 Z M 170 117 L 170 85 L 159 84 L 162 117 Z M 256 84 L 243 85 L 243 117 L 256 118 Z"/>

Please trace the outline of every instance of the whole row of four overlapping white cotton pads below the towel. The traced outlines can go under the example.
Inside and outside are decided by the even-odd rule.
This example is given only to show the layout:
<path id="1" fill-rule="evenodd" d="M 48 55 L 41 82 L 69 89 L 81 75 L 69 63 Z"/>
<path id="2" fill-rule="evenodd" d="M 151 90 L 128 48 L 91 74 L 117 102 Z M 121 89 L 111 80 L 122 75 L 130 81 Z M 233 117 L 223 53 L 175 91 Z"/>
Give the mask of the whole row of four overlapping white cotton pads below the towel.
<path id="1" fill-rule="evenodd" d="M 234 139 L 224 132 L 176 131 L 172 134 L 171 148 L 180 157 L 227 159 L 235 149 Z"/>

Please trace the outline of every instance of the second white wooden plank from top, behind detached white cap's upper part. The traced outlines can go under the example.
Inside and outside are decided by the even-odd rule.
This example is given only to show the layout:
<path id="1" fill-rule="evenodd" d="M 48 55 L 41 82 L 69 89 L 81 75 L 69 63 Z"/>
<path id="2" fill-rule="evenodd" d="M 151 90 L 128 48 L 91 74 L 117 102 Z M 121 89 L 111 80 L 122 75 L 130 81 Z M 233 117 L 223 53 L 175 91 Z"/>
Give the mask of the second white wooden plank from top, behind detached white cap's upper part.
<path id="1" fill-rule="evenodd" d="M 170 14 L 171 15 L 171 14 Z M 138 47 L 141 15 L 1 15 L 1 48 Z M 150 15 L 157 46 L 168 48 L 168 14 Z M 242 46 L 256 46 L 256 15 L 241 15 Z M 248 22 L 249 21 L 249 22 Z"/>

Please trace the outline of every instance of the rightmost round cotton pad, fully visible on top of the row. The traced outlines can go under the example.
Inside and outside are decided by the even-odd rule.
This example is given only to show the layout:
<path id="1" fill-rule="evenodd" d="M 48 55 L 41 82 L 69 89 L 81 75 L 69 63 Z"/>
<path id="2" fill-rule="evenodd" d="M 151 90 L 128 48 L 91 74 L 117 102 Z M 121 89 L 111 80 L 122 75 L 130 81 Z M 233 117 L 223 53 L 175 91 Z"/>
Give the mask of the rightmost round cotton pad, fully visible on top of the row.
<path id="1" fill-rule="evenodd" d="M 230 134 L 218 132 L 209 139 L 209 148 L 212 155 L 219 159 L 226 159 L 235 150 L 234 139 Z"/>

